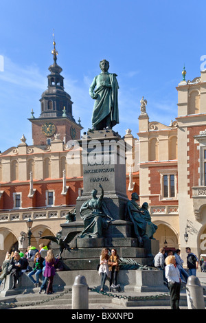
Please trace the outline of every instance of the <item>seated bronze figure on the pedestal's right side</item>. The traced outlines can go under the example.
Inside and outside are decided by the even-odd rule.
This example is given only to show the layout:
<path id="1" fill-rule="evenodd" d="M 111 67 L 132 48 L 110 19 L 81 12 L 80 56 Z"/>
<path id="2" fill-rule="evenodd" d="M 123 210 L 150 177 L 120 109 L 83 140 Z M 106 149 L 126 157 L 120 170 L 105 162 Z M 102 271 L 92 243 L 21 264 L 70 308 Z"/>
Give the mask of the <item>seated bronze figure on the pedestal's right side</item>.
<path id="1" fill-rule="evenodd" d="M 157 231 L 157 225 L 152 223 L 150 212 L 148 211 L 148 203 L 143 203 L 139 208 L 137 201 L 139 196 L 137 193 L 132 194 L 131 201 L 126 205 L 126 214 L 130 221 L 133 222 L 135 236 L 139 241 L 139 246 L 143 245 L 142 239 L 154 239 L 153 234 Z"/>

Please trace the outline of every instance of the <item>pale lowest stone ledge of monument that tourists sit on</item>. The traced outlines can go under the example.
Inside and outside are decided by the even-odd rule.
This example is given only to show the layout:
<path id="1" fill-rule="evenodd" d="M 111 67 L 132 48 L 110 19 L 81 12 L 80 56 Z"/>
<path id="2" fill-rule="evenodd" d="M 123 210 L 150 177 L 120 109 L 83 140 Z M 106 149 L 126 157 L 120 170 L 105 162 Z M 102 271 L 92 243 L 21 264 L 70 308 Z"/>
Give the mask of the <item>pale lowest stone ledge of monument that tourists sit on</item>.
<path id="1" fill-rule="evenodd" d="M 100 289 L 100 276 L 97 270 L 72 270 L 58 271 L 54 276 L 54 291 L 65 291 L 72 288 L 76 276 L 82 275 L 87 280 L 89 288 Z M 42 276 L 40 276 L 42 282 Z M 161 271 L 147 270 L 120 270 L 117 275 L 117 284 L 122 291 L 168 291 L 163 285 L 163 275 Z M 39 288 L 34 287 L 33 282 L 22 274 L 16 289 L 12 288 L 12 277 L 6 276 L 5 281 L 1 283 L 0 297 L 14 296 L 16 294 L 38 293 Z M 109 291 L 109 281 L 106 280 L 105 291 Z"/>

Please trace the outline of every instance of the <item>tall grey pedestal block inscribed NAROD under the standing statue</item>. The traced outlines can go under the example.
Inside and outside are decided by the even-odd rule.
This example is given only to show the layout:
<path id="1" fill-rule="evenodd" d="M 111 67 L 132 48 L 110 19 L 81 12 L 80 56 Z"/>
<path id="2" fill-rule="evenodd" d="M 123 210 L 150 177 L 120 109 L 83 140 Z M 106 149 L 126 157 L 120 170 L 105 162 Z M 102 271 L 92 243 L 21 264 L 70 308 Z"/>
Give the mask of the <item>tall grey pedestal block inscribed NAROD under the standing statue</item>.
<path id="1" fill-rule="evenodd" d="M 99 183 L 104 189 L 104 201 L 115 220 L 125 219 L 126 196 L 126 143 L 112 129 L 88 131 L 79 140 L 82 147 L 84 191 L 76 201 L 76 220 L 80 207 L 91 199 L 93 188 L 100 194 Z M 131 147 L 130 147 L 131 148 Z"/>

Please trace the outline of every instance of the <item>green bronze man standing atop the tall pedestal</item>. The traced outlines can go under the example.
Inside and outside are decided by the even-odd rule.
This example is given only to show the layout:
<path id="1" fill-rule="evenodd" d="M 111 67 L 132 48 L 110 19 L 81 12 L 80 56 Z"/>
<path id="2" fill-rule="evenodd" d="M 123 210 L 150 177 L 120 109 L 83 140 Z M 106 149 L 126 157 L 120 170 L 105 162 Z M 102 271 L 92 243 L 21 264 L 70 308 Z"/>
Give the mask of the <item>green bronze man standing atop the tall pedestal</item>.
<path id="1" fill-rule="evenodd" d="M 89 94 L 95 100 L 91 120 L 93 130 L 112 129 L 119 123 L 117 74 L 108 73 L 108 68 L 108 61 L 101 60 L 102 73 L 95 76 L 89 88 Z"/>

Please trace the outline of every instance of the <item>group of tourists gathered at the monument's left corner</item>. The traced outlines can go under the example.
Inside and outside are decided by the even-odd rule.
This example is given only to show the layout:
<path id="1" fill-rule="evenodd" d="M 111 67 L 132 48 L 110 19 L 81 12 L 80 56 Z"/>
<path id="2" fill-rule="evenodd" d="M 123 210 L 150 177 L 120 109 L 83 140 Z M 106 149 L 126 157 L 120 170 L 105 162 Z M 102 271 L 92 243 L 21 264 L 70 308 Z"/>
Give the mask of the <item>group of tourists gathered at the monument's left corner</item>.
<path id="1" fill-rule="evenodd" d="M 28 273 L 27 276 L 34 283 L 34 287 L 40 287 L 39 276 L 42 274 L 43 283 L 39 293 L 42 291 L 47 294 L 54 293 L 53 280 L 56 270 L 58 270 L 56 265 L 59 262 L 59 257 L 55 258 L 53 250 L 48 249 L 47 246 L 41 244 L 39 247 L 40 249 L 38 250 L 36 247 L 29 246 L 25 254 L 17 251 L 11 254 L 7 252 L 2 265 L 0 285 L 3 279 L 10 274 L 12 276 L 12 289 L 15 289 L 21 274 Z M 47 252 L 45 258 L 42 256 L 43 250 Z M 33 263 L 32 267 L 30 267 L 30 260 Z M 36 280 L 33 276 L 35 276 Z"/>

